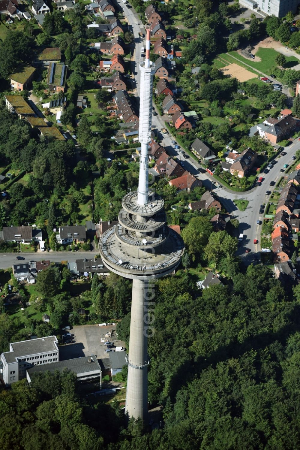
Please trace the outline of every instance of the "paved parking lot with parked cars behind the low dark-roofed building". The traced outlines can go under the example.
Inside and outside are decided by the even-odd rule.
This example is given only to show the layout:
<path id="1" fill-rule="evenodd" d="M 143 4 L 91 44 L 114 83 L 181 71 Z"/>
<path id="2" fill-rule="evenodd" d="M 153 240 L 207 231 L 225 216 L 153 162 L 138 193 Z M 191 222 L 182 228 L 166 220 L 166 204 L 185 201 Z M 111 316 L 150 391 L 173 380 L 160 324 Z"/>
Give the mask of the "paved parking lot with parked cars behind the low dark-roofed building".
<path id="1" fill-rule="evenodd" d="M 73 344 L 65 344 L 59 347 L 59 360 L 69 360 L 79 358 L 81 356 L 95 355 L 98 359 L 108 358 L 109 354 L 105 353 L 106 346 L 101 342 L 101 338 L 105 338 L 105 334 L 111 332 L 111 342 L 116 347 L 125 347 L 125 343 L 116 340 L 116 325 L 108 325 L 99 327 L 96 325 L 83 325 L 72 328 L 69 333 L 74 334 L 72 338 L 75 340 Z"/>

